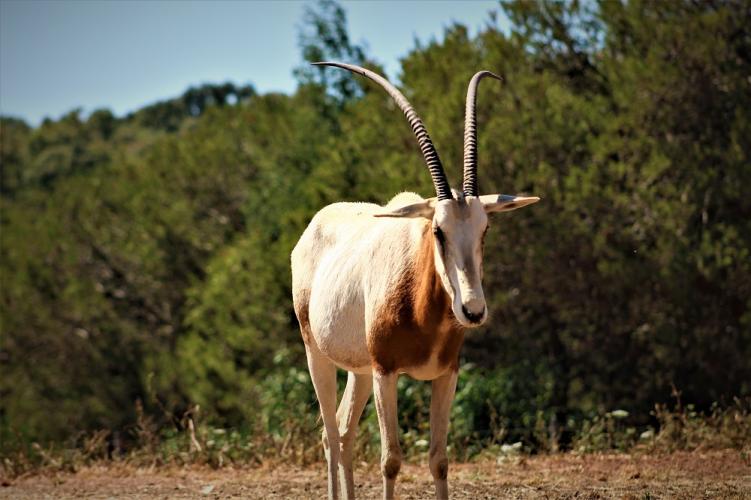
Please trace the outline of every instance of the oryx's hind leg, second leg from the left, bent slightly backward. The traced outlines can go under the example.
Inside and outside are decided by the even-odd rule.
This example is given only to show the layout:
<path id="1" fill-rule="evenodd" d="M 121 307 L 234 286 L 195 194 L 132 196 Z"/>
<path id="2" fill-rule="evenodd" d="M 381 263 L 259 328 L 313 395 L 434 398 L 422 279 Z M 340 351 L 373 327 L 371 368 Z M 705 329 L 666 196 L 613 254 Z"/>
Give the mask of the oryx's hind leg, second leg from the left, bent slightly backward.
<path id="1" fill-rule="evenodd" d="M 347 387 L 344 389 L 342 402 L 336 412 L 336 420 L 339 422 L 339 435 L 341 436 L 341 454 L 339 455 L 339 479 L 344 498 L 355 498 L 355 480 L 352 472 L 352 449 L 355 446 L 357 425 L 360 421 L 362 410 L 373 391 L 373 378 L 370 375 L 356 375 L 349 372 L 347 375 Z"/>

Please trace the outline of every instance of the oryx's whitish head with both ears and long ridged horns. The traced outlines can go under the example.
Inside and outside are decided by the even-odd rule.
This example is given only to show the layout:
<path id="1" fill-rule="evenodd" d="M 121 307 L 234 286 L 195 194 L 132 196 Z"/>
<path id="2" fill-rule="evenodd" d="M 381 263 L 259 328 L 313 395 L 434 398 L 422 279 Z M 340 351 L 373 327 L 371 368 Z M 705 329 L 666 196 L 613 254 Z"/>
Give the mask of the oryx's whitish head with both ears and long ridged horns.
<path id="1" fill-rule="evenodd" d="M 378 217 L 424 217 L 432 221 L 435 267 L 444 290 L 451 298 L 456 319 L 466 327 L 479 326 L 488 316 L 482 291 L 482 257 L 488 214 L 515 210 L 539 201 L 537 197 L 504 194 L 480 195 L 477 187 L 477 86 L 484 77 L 501 78 L 480 71 L 469 82 L 464 122 L 464 182 L 462 192 L 452 192 L 446 173 L 422 120 L 399 90 L 372 71 L 336 62 L 336 66 L 366 76 L 381 85 L 407 117 L 433 178 L 436 197 L 377 214 Z"/>

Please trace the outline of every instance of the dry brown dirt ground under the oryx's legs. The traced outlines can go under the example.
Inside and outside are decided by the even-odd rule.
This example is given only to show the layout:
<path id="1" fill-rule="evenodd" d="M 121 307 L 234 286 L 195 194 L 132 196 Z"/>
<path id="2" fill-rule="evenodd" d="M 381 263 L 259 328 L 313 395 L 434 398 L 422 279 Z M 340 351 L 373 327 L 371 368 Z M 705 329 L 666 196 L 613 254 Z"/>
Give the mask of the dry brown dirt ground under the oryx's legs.
<path id="1" fill-rule="evenodd" d="M 3 479 L 0 498 L 324 498 L 323 464 L 308 468 L 156 468 L 96 466 L 75 474 Z M 378 469 L 356 471 L 358 498 L 380 498 Z M 751 463 L 738 451 L 671 455 L 552 455 L 452 464 L 452 498 L 747 498 Z M 426 465 L 405 464 L 402 499 L 432 498 Z"/>

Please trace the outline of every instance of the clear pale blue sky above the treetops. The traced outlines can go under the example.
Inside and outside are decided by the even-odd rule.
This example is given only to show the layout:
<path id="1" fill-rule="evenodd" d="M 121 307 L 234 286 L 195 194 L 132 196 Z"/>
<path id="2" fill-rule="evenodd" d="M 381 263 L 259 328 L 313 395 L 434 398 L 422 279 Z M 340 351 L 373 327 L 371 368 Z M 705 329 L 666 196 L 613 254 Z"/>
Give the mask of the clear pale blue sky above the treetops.
<path id="1" fill-rule="evenodd" d="M 453 21 L 471 33 L 494 0 L 343 2 L 349 33 L 390 78 L 399 58 L 442 38 Z M 306 2 L 0 0 L 0 112 L 36 125 L 75 107 L 122 115 L 205 82 L 292 92 Z M 502 19 L 501 16 L 499 16 Z M 503 21 L 500 21 L 503 22 Z"/>

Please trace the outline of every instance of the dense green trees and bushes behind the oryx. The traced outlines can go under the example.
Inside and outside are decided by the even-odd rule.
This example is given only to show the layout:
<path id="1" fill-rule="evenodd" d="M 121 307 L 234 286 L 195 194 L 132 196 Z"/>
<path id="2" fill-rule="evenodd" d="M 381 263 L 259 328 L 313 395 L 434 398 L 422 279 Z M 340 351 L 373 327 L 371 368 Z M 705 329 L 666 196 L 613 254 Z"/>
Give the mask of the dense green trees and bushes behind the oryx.
<path id="1" fill-rule="evenodd" d="M 479 94 L 481 190 L 543 198 L 492 221 L 493 317 L 463 351 L 454 450 L 566 445 L 585 417 L 644 425 L 677 394 L 698 410 L 751 395 L 748 3 L 502 8 L 510 33 L 452 26 L 399 75 L 458 182 L 466 85 L 502 74 Z M 300 41 L 378 69 L 331 2 Z M 296 75 L 293 95 L 207 85 L 126 117 L 2 118 L 4 443 L 109 429 L 127 446 L 144 418 L 180 431 L 198 412 L 313 434 L 290 251 L 327 203 L 432 187 L 380 88 Z M 400 383 L 413 443 L 427 388 Z"/>

